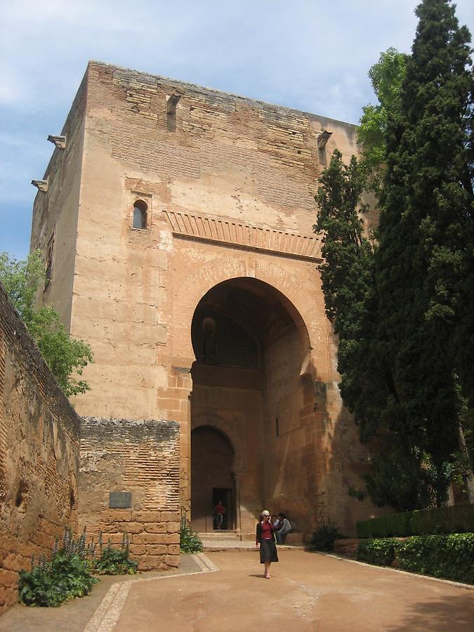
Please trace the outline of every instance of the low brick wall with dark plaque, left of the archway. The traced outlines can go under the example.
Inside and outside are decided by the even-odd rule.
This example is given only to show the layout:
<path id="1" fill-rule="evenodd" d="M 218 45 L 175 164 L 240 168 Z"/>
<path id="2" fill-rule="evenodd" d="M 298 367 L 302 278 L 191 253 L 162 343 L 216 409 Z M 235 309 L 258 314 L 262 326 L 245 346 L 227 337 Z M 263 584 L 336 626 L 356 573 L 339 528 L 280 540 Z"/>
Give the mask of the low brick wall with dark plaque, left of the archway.
<path id="1" fill-rule="evenodd" d="M 79 514 L 95 541 L 121 544 L 140 570 L 178 567 L 180 540 L 179 425 L 154 419 L 86 417 L 81 433 Z M 110 507 L 110 492 L 129 492 L 127 507 Z M 130 496 L 129 496 L 130 497 Z"/>

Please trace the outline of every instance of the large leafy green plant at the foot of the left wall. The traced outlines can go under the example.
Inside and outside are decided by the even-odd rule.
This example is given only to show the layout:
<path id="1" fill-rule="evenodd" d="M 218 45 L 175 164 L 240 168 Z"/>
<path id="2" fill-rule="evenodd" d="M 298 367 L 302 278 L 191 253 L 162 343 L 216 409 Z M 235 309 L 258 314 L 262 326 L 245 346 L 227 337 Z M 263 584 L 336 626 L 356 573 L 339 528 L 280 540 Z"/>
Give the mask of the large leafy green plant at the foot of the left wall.
<path id="1" fill-rule="evenodd" d="M 92 548 L 85 546 L 85 532 L 76 541 L 71 529 L 66 529 L 62 539 L 56 539 L 51 560 L 41 557 L 32 570 L 20 571 L 18 599 L 25 605 L 56 607 L 72 597 L 88 595 L 97 579 L 92 577 L 91 562 L 87 555 Z"/>

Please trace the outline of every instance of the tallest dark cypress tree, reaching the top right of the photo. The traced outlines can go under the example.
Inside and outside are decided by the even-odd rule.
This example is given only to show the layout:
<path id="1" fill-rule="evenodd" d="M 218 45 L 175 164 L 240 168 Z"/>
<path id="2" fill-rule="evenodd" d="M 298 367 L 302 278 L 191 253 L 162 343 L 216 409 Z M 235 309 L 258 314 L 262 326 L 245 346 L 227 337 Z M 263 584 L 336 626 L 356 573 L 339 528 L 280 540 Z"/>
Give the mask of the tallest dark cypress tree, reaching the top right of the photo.
<path id="1" fill-rule="evenodd" d="M 419 472 L 416 503 L 426 505 L 430 494 L 442 502 L 449 484 L 460 383 L 472 396 L 473 75 L 470 35 L 451 2 L 423 0 L 416 13 L 387 126 L 376 337 L 393 385 L 381 419 L 406 446 Z"/>

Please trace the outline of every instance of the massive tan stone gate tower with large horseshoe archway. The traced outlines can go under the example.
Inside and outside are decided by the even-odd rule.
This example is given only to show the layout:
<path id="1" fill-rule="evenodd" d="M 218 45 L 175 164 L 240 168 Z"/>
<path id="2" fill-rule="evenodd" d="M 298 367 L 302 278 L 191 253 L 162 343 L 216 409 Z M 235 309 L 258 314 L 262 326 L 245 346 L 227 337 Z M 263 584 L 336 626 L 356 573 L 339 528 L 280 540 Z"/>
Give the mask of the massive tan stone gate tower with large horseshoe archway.
<path id="1" fill-rule="evenodd" d="M 31 246 L 44 301 L 95 355 L 77 411 L 122 420 L 103 491 L 159 505 L 153 433 L 131 449 L 120 428 L 169 420 L 194 529 L 222 500 L 242 534 L 263 507 L 353 532 L 367 508 L 347 490 L 367 457 L 338 393 L 312 225 L 318 173 L 335 147 L 357 152 L 355 127 L 90 62 L 50 140 Z M 124 454 L 135 469 L 119 481 Z"/>

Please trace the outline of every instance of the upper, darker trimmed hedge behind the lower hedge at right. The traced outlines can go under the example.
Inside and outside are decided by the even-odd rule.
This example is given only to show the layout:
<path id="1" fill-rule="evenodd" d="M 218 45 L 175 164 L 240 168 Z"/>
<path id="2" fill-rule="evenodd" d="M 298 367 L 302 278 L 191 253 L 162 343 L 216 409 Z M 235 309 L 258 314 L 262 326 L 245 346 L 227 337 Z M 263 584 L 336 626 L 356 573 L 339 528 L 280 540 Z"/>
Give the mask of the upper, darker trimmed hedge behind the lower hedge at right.
<path id="1" fill-rule="evenodd" d="M 472 532 L 474 505 L 390 513 L 371 520 L 360 520 L 356 529 L 360 539 Z"/>

